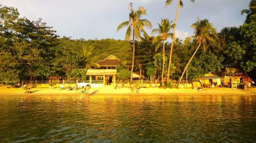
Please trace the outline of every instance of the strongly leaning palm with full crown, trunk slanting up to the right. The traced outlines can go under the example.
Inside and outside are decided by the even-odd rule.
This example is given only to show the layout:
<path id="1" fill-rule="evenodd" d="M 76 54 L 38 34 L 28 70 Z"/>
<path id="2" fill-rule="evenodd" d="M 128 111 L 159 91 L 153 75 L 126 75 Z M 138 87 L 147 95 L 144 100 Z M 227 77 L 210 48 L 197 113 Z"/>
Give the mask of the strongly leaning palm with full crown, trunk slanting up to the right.
<path id="1" fill-rule="evenodd" d="M 196 51 L 194 52 L 194 54 L 188 61 L 184 71 L 182 72 L 182 75 L 181 75 L 181 78 L 180 78 L 180 81 L 179 81 L 177 87 L 179 87 L 181 79 L 182 79 L 185 71 L 187 70 L 188 65 L 190 64 L 191 60 L 197 53 L 197 50 L 199 49 L 201 44 L 206 40 L 209 41 L 210 42 L 209 44 L 211 44 L 211 45 L 214 45 L 217 43 L 217 41 L 215 40 L 217 37 L 217 30 L 216 30 L 216 28 L 213 27 L 213 25 L 211 23 L 209 23 L 209 21 L 207 19 L 199 20 L 199 18 L 197 18 L 196 23 L 192 24 L 191 27 L 194 28 L 195 35 L 186 38 L 186 40 L 184 41 L 184 44 L 187 44 L 188 42 L 190 42 L 191 38 L 192 38 L 196 41 L 198 46 L 197 46 Z"/>

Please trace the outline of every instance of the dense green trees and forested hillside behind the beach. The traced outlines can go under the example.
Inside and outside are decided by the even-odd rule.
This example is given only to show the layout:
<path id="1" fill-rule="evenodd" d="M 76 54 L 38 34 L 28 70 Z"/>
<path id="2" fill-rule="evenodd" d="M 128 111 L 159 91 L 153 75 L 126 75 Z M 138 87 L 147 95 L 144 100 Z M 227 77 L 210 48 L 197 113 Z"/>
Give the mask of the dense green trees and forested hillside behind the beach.
<path id="1" fill-rule="evenodd" d="M 254 9 L 250 10 L 253 13 Z M 240 27 L 224 27 L 220 32 L 207 19 L 197 20 L 191 26 L 195 35 L 184 43 L 176 38 L 171 51 L 170 43 L 163 42 L 163 39 L 152 42 L 157 37 L 148 37 L 147 34 L 132 41 L 59 38 L 53 27 L 47 26 L 42 19 L 19 18 L 17 9 L 0 6 L 0 82 L 47 80 L 50 75 L 65 80 L 88 79 L 85 76 L 87 69 L 110 55 L 127 66 L 119 69 L 117 75 L 120 80 L 127 81 L 133 52 L 133 72 L 143 75 L 145 80 L 160 80 L 161 73 L 166 80 L 170 53 L 172 80 L 183 79 L 181 73 L 186 67 L 188 78 L 192 80 L 219 71 L 230 63 L 241 65 L 247 74 L 255 75 L 256 15 L 250 14 L 247 18 L 249 20 Z M 163 33 L 159 33 L 161 38 Z"/>

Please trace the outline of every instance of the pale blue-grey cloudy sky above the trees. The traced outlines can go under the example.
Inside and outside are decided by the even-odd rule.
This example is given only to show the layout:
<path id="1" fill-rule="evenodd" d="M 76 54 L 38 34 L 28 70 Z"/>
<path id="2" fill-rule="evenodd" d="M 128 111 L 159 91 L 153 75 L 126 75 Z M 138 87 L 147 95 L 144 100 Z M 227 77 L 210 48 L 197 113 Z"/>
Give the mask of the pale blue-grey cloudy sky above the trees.
<path id="1" fill-rule="evenodd" d="M 47 26 L 53 26 L 60 37 L 72 37 L 72 39 L 116 39 L 124 40 L 127 27 L 117 32 L 117 26 L 129 20 L 130 10 L 128 5 L 133 3 L 133 9 L 140 6 L 147 10 L 147 19 L 152 23 L 151 29 L 145 29 L 151 35 L 151 31 L 158 28 L 161 18 L 175 20 L 178 0 L 165 7 L 166 0 L 0 0 L 0 5 L 17 8 L 20 17 L 26 17 L 31 21 L 42 18 Z M 208 19 L 219 32 L 224 27 L 239 27 L 246 14 L 240 11 L 249 9 L 250 0 L 182 0 L 183 8 L 180 8 L 176 38 L 184 40 L 193 35 L 190 27 L 196 19 Z M 173 33 L 173 31 L 172 31 Z M 156 36 L 156 35 L 155 35 Z M 171 42 L 170 40 L 167 40 Z"/>

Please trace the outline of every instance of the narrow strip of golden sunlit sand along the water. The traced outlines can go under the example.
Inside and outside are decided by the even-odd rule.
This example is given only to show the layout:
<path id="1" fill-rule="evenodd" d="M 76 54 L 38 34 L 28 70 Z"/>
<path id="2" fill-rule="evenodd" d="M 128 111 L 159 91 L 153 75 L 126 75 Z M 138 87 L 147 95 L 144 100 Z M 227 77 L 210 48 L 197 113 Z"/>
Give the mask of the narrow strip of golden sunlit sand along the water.
<path id="1" fill-rule="evenodd" d="M 80 91 L 80 90 L 79 90 Z M 21 88 L 14 88 L 7 86 L 0 87 L 0 96 L 20 96 L 25 95 L 25 90 Z M 75 94 L 75 90 L 67 90 L 67 89 L 58 89 L 58 88 L 32 88 L 32 93 L 26 93 L 31 96 L 42 96 L 42 95 L 81 95 Z M 101 88 L 91 88 L 89 90 L 89 95 L 136 95 L 136 91 L 131 93 L 130 88 L 117 88 L 114 87 L 101 87 Z M 176 88 L 158 88 L 158 87 L 149 87 L 149 88 L 140 88 L 139 95 L 256 95 L 256 89 L 251 90 L 242 90 L 236 88 L 203 88 L 203 90 L 197 89 L 176 89 Z"/>

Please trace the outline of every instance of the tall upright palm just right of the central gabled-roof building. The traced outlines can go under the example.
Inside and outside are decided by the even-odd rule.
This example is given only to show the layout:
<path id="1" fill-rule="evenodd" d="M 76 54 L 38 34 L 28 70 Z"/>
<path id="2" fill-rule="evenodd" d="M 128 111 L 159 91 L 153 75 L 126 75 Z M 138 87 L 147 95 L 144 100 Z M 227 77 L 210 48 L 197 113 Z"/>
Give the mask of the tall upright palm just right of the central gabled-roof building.
<path id="1" fill-rule="evenodd" d="M 135 38 L 141 39 L 140 33 L 143 32 L 145 37 L 148 37 L 146 31 L 144 30 L 144 26 L 151 28 L 152 24 L 150 21 L 146 19 L 140 19 L 142 15 L 146 15 L 146 9 L 144 7 L 139 7 L 136 11 L 133 9 L 133 3 L 129 4 L 129 9 L 131 13 L 129 14 L 129 21 L 125 21 L 117 27 L 117 32 L 123 28 L 128 27 L 125 39 L 130 41 L 131 36 L 133 37 L 133 56 L 132 56 L 132 69 L 131 69 L 131 77 L 130 77 L 130 85 L 132 83 L 132 75 L 133 75 L 133 66 L 134 66 L 134 53 L 135 53 Z"/>

